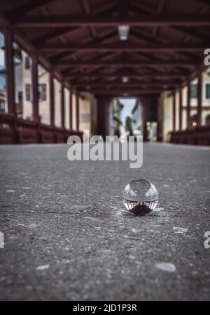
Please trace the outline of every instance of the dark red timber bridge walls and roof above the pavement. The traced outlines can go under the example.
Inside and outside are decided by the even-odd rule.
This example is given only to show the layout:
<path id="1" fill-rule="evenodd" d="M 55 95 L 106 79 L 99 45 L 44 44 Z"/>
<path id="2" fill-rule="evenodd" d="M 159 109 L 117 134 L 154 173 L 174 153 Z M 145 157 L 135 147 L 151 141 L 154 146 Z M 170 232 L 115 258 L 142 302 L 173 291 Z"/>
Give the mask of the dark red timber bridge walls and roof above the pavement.
<path id="1" fill-rule="evenodd" d="M 0 22 L 0 143 L 66 142 L 83 119 L 105 136 L 135 96 L 145 140 L 157 122 L 158 141 L 209 144 L 209 1 L 8 0 Z"/>

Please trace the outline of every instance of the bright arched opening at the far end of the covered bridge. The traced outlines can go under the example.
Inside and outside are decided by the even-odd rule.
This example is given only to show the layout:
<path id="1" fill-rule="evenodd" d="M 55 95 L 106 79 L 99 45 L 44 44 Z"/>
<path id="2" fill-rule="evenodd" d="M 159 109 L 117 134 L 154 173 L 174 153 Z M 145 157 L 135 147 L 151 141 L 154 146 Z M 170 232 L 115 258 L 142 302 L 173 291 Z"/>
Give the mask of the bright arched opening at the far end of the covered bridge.
<path id="1" fill-rule="evenodd" d="M 110 136 L 143 136 L 143 106 L 138 98 L 113 98 L 108 110 Z"/>

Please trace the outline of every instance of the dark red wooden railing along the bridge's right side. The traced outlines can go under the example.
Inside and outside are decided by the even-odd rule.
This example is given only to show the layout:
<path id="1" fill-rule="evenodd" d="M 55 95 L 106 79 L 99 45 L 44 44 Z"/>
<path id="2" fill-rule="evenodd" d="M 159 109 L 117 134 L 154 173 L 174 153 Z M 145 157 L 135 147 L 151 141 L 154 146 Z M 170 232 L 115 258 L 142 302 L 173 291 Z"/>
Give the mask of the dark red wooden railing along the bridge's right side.
<path id="1" fill-rule="evenodd" d="M 190 130 L 174 131 L 171 133 L 172 143 L 210 145 L 210 127 L 199 127 Z"/>

